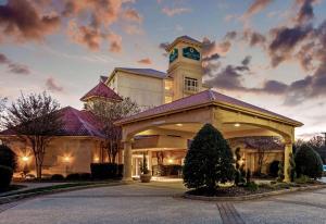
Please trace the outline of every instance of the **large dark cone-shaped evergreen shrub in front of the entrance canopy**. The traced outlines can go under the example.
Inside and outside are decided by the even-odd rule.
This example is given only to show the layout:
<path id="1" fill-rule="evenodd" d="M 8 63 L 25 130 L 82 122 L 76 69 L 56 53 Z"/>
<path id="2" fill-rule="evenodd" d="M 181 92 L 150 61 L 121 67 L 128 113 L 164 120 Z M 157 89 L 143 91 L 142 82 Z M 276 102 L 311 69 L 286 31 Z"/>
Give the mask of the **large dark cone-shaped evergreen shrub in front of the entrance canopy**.
<path id="1" fill-rule="evenodd" d="M 218 183 L 235 177 L 233 152 L 223 135 L 205 124 L 193 138 L 184 165 L 184 183 L 188 188 L 216 188 Z"/>

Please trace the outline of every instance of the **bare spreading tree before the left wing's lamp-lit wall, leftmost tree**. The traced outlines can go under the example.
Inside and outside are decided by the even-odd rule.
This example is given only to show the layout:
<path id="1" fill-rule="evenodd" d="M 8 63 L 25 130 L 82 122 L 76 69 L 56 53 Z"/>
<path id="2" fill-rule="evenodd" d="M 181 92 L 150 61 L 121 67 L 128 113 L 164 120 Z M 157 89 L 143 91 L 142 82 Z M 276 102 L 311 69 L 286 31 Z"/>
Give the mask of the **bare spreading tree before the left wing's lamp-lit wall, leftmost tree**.
<path id="1" fill-rule="evenodd" d="M 62 129 L 59 109 L 58 101 L 46 91 L 28 96 L 22 94 L 4 116 L 7 128 L 32 147 L 38 178 L 41 178 L 47 146 Z"/>

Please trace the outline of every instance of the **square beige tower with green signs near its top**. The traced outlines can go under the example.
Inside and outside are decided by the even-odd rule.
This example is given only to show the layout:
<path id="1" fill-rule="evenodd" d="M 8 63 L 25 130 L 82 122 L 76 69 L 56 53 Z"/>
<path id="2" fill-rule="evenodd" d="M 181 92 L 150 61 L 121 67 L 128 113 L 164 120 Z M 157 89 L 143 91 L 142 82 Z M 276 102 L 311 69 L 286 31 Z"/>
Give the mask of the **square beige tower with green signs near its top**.
<path id="1" fill-rule="evenodd" d="M 202 91 L 202 42 L 181 36 L 176 38 L 167 48 L 171 100 L 177 100 Z M 165 84 L 166 90 L 166 84 Z M 168 92 L 166 92 L 168 96 Z M 165 97 L 166 99 L 166 97 Z M 167 102 L 165 100 L 165 102 Z"/>

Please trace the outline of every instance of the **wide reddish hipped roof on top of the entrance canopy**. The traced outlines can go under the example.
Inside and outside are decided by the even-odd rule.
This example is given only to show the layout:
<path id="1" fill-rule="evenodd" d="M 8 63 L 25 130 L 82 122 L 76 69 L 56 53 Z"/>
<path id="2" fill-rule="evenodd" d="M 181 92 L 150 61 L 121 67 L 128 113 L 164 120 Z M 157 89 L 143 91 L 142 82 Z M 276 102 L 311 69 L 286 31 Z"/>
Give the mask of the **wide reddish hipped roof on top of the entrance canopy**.
<path id="1" fill-rule="evenodd" d="M 287 123 L 292 123 L 296 126 L 301 126 L 302 123 L 297 122 L 294 120 L 291 120 L 289 117 L 283 116 L 280 114 L 274 113 L 272 111 L 255 107 L 253 104 L 243 102 L 241 100 L 237 100 L 235 98 L 222 95 L 220 92 L 216 92 L 214 90 L 205 90 L 201 91 L 199 94 L 181 98 L 179 100 L 162 104 L 152 109 L 149 109 L 147 111 L 140 112 L 138 114 L 135 114 L 133 116 L 125 117 L 123 120 L 120 120 L 116 122 L 116 124 L 121 125 L 124 123 L 131 123 L 137 120 L 146 120 L 149 117 L 160 116 L 162 114 L 166 113 L 173 113 L 173 112 L 179 112 L 185 109 L 189 108 L 196 108 L 196 107 L 205 107 L 208 104 L 220 104 L 225 105 L 238 110 L 246 110 L 250 112 L 255 112 L 256 114 L 262 114 L 265 116 L 271 117 L 277 117 L 278 120 L 281 120 Z"/>

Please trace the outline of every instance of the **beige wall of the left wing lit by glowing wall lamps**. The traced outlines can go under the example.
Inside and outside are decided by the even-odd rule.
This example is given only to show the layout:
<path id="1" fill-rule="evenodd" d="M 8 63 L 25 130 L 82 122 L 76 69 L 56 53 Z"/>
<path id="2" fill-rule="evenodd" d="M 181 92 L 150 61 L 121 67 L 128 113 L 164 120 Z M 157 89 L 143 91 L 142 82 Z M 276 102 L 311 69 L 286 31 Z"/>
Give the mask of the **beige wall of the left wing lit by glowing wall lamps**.
<path id="1" fill-rule="evenodd" d="M 30 173 L 35 174 L 35 160 L 32 149 L 18 140 L 10 140 L 8 145 L 18 157 L 17 173 L 21 173 L 27 164 Z M 23 157 L 28 157 L 28 161 L 24 162 Z M 96 158 L 101 160 L 98 139 L 82 137 L 55 138 L 47 148 L 42 174 L 90 173 L 90 163 L 97 162 Z M 104 161 L 105 159 L 106 155 Z"/>

